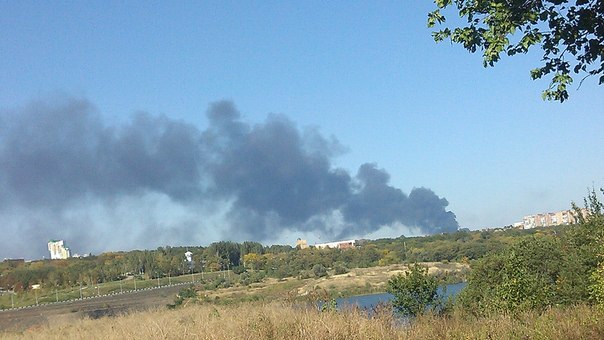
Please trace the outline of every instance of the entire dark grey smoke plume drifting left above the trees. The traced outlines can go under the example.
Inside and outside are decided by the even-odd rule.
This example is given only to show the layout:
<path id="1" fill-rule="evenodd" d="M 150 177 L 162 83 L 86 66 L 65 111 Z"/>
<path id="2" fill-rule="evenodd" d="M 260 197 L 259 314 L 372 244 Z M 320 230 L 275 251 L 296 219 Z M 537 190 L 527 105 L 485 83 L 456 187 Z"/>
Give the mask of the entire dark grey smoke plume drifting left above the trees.
<path id="1" fill-rule="evenodd" d="M 203 243 L 210 227 L 199 214 L 217 206 L 219 238 L 269 240 L 284 230 L 357 237 L 395 223 L 426 234 L 458 228 L 447 200 L 429 189 L 407 196 L 374 164 L 354 177 L 334 168 L 344 148 L 317 129 L 283 115 L 250 125 L 227 101 L 212 104 L 207 119 L 203 131 L 146 113 L 109 126 L 73 99 L 1 112 L 0 223 L 17 235 L 10 247 L 71 236 L 93 249 L 112 243 L 105 250 L 128 247 L 115 236 L 131 234 L 130 248 L 161 245 L 158 238 Z M 157 221 L 158 211 L 180 217 Z M 334 213 L 339 228 L 323 218 Z M 191 239 L 196 229 L 203 232 Z"/>

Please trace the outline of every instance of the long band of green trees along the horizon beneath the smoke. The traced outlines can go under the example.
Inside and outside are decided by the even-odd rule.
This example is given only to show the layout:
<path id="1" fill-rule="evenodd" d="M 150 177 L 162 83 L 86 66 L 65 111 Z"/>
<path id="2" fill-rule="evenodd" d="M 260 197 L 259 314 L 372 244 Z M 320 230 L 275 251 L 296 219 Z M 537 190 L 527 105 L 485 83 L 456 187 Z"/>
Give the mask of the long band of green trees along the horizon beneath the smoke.
<path id="1" fill-rule="evenodd" d="M 44 288 L 93 285 L 127 277 L 155 279 L 187 273 L 233 270 L 254 273 L 254 281 L 275 277 L 325 275 L 330 269 L 345 273 L 404 262 L 471 261 L 500 252 L 531 235 L 552 235 L 564 227 L 535 230 L 497 229 L 458 231 L 426 237 L 360 240 L 354 249 L 297 249 L 289 245 L 264 246 L 258 242 L 222 241 L 207 247 L 159 247 L 155 250 L 110 252 L 86 258 L 0 263 L 0 288 L 26 291 L 34 284 Z M 192 263 L 185 252 L 192 253 Z"/>

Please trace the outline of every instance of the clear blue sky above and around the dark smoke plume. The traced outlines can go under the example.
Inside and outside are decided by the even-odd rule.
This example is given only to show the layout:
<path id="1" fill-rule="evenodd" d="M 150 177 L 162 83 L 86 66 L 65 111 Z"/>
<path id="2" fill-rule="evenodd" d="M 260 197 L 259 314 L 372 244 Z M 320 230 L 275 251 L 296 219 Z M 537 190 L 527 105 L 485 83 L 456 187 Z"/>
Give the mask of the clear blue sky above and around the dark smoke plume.
<path id="1" fill-rule="evenodd" d="M 92 103 L 106 125 L 144 111 L 203 130 L 208 106 L 229 100 L 250 126 L 277 113 L 336 138 L 346 152 L 331 165 L 351 175 L 370 162 L 405 193 L 430 188 L 471 229 L 567 209 L 602 186 L 596 79 L 573 85 L 568 102 L 544 102 L 547 82 L 529 77 L 538 51 L 485 69 L 480 55 L 434 43 L 433 6 L 1 2 L 0 110 L 70 97 Z"/>

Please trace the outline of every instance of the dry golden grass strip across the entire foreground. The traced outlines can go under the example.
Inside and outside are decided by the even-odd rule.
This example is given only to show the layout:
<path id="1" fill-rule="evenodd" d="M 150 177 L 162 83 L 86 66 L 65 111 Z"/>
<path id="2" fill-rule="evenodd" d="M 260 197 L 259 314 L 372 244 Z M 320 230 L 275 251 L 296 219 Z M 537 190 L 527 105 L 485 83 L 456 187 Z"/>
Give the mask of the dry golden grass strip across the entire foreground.
<path id="1" fill-rule="evenodd" d="M 425 316 L 401 326 L 388 311 L 319 312 L 283 304 L 190 305 L 4 333 L 18 339 L 604 339 L 604 312 L 591 307 L 541 315 Z"/>

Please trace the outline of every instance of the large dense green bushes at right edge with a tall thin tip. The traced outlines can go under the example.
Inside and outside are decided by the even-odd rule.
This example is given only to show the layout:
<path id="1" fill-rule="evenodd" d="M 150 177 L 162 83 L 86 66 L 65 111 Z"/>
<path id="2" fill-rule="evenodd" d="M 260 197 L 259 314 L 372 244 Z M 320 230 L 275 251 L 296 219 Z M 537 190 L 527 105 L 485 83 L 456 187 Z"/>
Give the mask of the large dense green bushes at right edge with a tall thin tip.
<path id="1" fill-rule="evenodd" d="M 517 313 L 604 304 L 604 215 L 595 190 L 585 209 L 575 211 L 580 223 L 566 233 L 535 235 L 474 263 L 460 295 L 464 309 Z"/>

